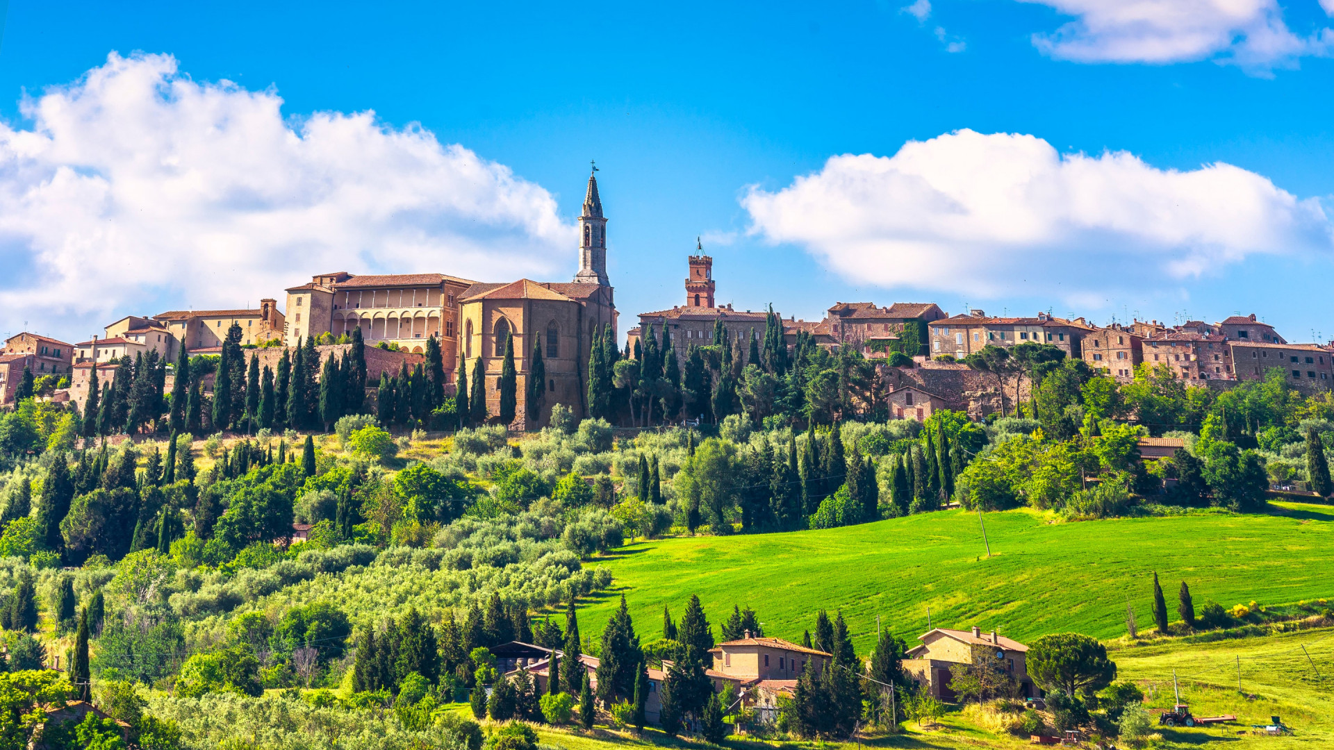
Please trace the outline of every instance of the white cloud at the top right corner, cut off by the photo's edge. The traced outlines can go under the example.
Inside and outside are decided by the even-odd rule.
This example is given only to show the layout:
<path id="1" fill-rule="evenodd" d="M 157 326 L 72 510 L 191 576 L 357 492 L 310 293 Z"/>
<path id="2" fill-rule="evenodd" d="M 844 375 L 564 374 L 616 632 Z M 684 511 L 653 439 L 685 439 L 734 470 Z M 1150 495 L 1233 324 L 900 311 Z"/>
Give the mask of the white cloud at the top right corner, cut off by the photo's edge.
<path id="1" fill-rule="evenodd" d="M 1329 55 L 1334 31 L 1293 33 L 1277 0 L 1021 0 L 1075 20 L 1034 44 L 1079 63 L 1175 63 L 1218 57 L 1265 71 L 1307 55 Z M 1321 0 L 1329 11 L 1334 0 Z"/>

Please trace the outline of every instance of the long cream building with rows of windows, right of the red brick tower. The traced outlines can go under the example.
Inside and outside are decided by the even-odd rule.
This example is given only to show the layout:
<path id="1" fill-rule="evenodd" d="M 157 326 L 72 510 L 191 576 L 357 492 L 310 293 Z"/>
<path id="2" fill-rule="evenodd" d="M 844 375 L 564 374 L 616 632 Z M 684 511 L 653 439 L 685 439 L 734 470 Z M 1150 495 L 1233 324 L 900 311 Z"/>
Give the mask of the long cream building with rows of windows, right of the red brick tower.
<path id="1" fill-rule="evenodd" d="M 930 328 L 931 356 L 963 359 L 986 346 L 1013 347 L 1025 342 L 1051 344 L 1069 358 L 1082 356 L 1081 343 L 1093 331 L 1083 318 L 1066 320 L 1039 312 L 1034 318 L 992 318 L 980 310 L 934 320 Z"/>

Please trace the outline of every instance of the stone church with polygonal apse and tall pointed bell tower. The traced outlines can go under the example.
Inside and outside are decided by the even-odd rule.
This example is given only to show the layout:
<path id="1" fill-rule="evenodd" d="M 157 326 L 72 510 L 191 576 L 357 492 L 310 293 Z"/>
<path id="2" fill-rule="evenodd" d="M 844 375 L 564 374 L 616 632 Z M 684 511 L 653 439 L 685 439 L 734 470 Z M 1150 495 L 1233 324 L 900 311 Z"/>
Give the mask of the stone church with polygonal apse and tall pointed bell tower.
<path id="1" fill-rule="evenodd" d="M 500 411 L 506 335 L 514 335 L 514 362 L 519 374 L 515 427 L 546 427 L 556 403 L 586 416 L 592 336 L 606 324 L 616 332 L 618 312 L 607 279 L 607 218 L 602 212 L 596 173 L 588 175 L 579 238 L 579 272 L 572 282 L 478 283 L 459 295 L 459 356 L 467 362 L 470 379 L 474 363 L 482 359 L 487 412 L 492 416 Z M 539 342 L 547 382 L 540 414 L 534 420 L 527 416 L 528 372 L 534 346 Z"/>

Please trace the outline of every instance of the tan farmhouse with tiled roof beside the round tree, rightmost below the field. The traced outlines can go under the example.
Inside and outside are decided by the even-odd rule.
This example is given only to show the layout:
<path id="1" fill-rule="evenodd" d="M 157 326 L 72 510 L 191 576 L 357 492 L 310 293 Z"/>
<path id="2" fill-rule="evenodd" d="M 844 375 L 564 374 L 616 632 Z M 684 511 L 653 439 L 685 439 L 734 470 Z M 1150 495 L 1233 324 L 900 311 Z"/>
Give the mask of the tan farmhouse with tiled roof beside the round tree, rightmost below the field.
<path id="1" fill-rule="evenodd" d="M 999 661 L 1002 671 L 1018 681 L 1025 697 L 1031 698 L 1038 694 L 1025 662 L 1029 647 L 1018 641 L 996 635 L 994 630 L 982 633 L 979 627 L 971 631 L 938 627 L 918 635 L 918 641 L 922 643 L 908 649 L 903 670 L 932 698 L 954 701 L 950 667 L 972 665 L 983 658 Z"/>

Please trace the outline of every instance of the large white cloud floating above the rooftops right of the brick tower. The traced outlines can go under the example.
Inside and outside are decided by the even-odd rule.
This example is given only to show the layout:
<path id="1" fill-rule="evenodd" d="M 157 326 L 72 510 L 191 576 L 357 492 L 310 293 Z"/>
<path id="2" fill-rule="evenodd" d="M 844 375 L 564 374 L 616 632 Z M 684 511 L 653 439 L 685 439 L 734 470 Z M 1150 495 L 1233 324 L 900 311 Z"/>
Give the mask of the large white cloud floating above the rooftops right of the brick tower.
<path id="1" fill-rule="evenodd" d="M 752 234 L 804 247 L 848 280 L 987 298 L 1085 302 L 1170 288 L 1254 254 L 1334 250 L 1317 200 L 1238 167 L 1158 169 L 967 129 L 894 156 L 834 156 L 779 191 L 752 187 L 742 204 Z"/>

